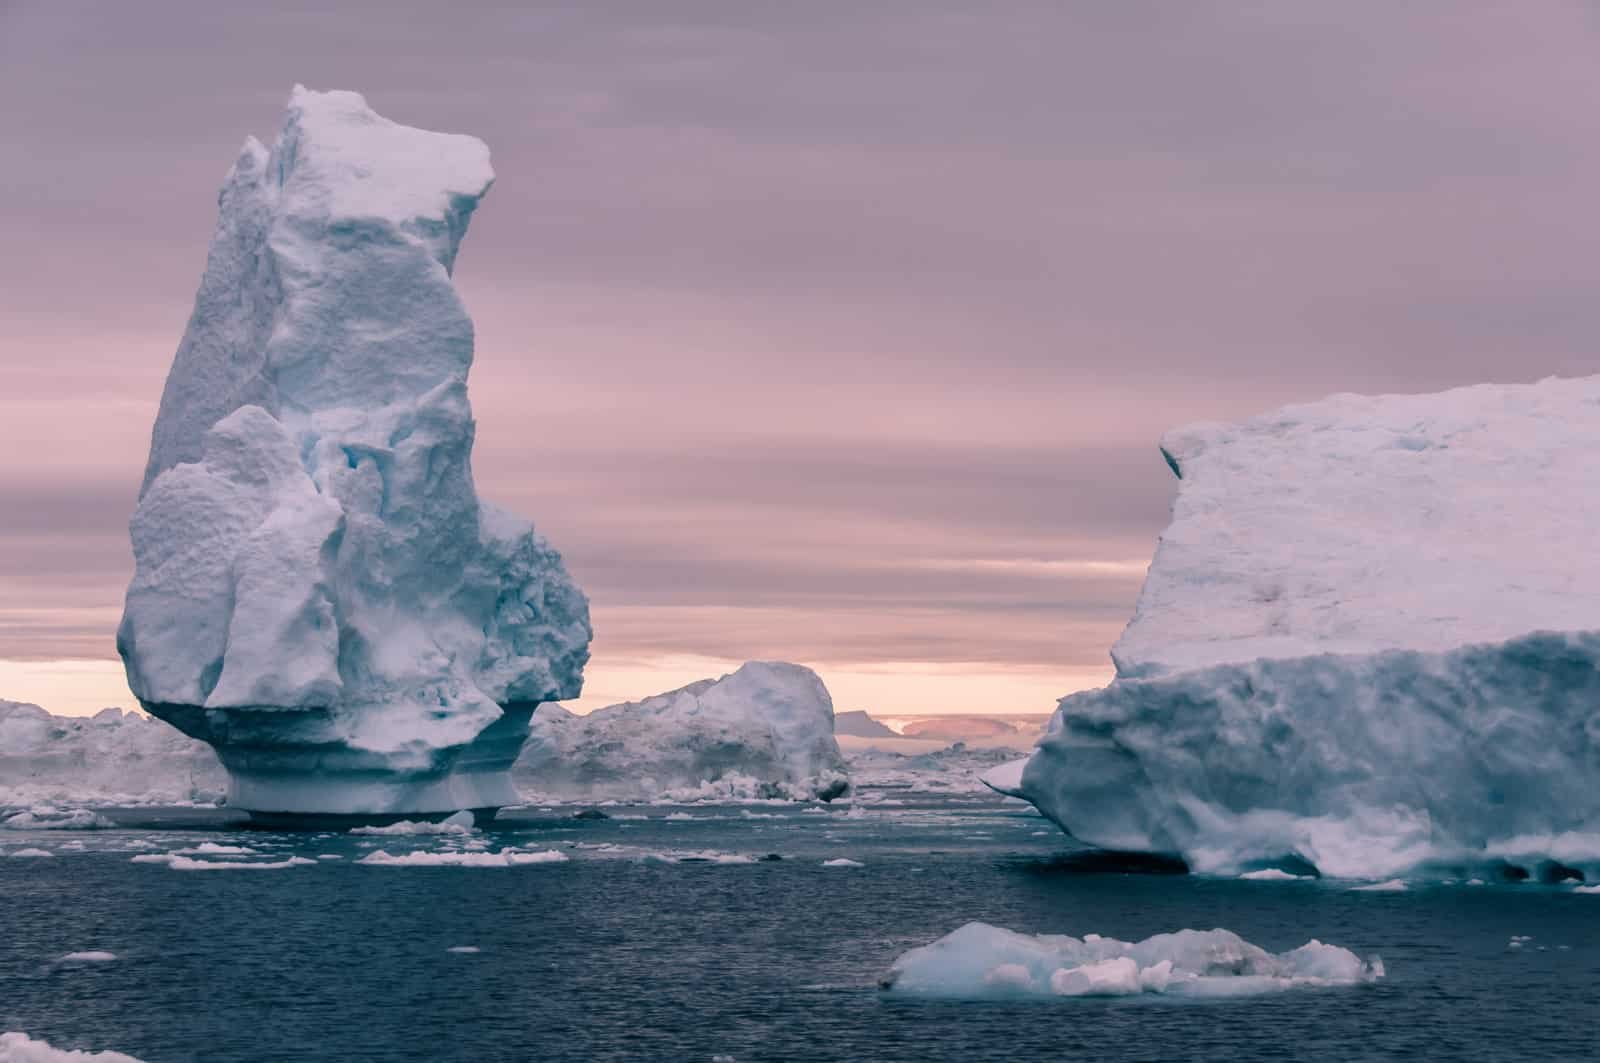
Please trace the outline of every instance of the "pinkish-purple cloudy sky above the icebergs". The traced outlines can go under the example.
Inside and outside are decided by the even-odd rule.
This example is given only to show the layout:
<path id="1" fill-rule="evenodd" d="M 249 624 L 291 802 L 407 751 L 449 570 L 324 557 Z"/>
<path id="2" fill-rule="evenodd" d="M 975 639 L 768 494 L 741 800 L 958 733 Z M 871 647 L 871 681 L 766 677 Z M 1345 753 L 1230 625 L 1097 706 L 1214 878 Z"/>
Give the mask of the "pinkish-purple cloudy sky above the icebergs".
<path id="1" fill-rule="evenodd" d="M 594 600 L 586 706 L 784 658 L 1048 711 L 1163 429 L 1597 365 L 1579 3 L 400 6 L 0 8 L 0 696 L 130 703 L 150 421 L 294 82 L 494 152 L 477 477 Z"/>

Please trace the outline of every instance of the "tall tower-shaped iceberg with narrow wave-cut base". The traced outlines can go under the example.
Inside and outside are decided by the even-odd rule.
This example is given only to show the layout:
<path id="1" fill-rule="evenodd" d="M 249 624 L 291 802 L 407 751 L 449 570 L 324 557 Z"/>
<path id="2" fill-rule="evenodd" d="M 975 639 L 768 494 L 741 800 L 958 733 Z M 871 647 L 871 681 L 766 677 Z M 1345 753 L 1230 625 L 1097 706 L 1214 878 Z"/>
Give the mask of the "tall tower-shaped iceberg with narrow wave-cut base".
<path id="1" fill-rule="evenodd" d="M 472 322 L 450 280 L 493 173 L 470 136 L 296 88 L 222 184 L 131 520 L 118 648 L 144 708 L 258 812 L 515 800 L 589 610 L 472 485 Z"/>

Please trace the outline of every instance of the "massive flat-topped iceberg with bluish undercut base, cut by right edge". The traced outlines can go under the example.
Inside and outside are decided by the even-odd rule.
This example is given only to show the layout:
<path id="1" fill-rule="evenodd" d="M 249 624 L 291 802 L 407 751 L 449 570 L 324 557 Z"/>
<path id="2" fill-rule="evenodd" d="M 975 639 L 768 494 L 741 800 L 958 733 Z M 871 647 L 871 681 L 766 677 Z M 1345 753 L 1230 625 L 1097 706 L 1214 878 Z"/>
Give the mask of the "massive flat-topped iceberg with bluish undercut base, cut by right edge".
<path id="1" fill-rule="evenodd" d="M 1170 434 L 1117 679 L 1062 698 L 1018 792 L 1200 869 L 1386 876 L 1600 831 L 1597 442 L 1600 376 Z"/>

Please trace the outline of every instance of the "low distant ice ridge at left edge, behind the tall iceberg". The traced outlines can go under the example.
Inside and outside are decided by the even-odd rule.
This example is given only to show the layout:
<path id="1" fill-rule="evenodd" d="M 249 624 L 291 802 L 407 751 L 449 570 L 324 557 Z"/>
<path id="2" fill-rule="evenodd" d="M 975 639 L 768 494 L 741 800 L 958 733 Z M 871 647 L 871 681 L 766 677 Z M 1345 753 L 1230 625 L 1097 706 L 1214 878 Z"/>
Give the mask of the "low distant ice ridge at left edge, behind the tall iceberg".
<path id="1" fill-rule="evenodd" d="M 37 704 L 0 701 L 0 807 L 211 804 L 226 789 L 210 746 L 160 720 L 122 709 L 51 716 Z M 94 821 L 83 810 L 22 815 L 32 818 L 16 828 Z"/>

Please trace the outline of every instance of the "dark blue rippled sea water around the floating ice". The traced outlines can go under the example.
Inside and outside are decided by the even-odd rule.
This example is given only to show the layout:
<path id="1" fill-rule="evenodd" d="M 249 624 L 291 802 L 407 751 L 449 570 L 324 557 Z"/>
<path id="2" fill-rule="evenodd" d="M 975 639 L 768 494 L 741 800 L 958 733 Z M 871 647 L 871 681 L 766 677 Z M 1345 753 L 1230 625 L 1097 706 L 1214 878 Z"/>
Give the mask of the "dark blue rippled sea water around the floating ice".
<path id="1" fill-rule="evenodd" d="M 453 842 L 245 832 L 205 810 L 6 832 L 6 853 L 56 855 L 0 855 L 0 1029 L 150 1063 L 1600 1058 L 1600 897 L 1086 874 L 1053 863 L 1066 842 L 1014 802 L 898 799 L 858 816 L 530 808 L 485 839 L 571 858 L 496 869 L 357 864 L 376 847 Z M 254 860 L 130 860 L 205 840 L 269 853 Z M 784 858 L 645 858 L 694 850 Z M 821 866 L 838 856 L 864 866 Z M 896 956 L 974 919 L 1128 940 L 1227 927 L 1270 951 L 1320 938 L 1382 956 L 1387 977 L 1211 1002 L 938 1002 L 877 988 Z M 1512 935 L 1530 940 L 1514 949 Z M 117 959 L 59 962 L 86 949 Z"/>

